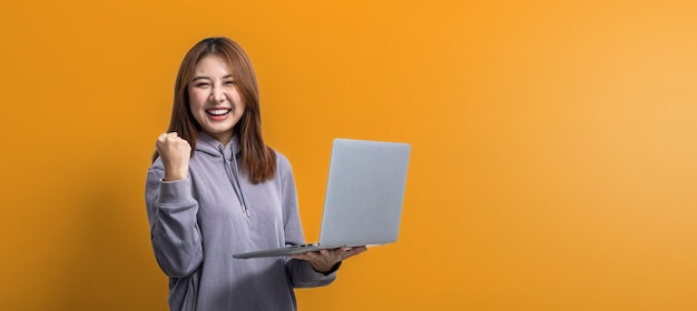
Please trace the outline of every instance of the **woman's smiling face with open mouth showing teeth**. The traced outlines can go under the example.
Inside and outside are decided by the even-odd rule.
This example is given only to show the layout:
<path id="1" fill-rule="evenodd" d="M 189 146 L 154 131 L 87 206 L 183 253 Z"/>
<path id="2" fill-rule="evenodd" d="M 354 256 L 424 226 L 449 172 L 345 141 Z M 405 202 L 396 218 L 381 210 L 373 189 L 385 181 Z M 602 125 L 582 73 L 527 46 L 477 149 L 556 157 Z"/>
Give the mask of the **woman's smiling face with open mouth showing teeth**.
<path id="1" fill-rule="evenodd" d="M 245 106 L 225 61 L 217 56 L 204 57 L 196 64 L 188 93 L 192 114 L 202 130 L 223 144 L 229 142 Z"/>

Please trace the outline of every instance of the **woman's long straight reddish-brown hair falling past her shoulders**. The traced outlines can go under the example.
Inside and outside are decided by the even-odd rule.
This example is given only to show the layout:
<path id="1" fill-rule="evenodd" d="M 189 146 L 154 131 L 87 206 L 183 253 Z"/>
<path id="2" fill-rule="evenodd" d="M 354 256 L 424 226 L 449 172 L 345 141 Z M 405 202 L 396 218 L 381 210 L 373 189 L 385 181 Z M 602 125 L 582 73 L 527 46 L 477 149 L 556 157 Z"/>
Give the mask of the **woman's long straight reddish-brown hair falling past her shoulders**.
<path id="1" fill-rule="evenodd" d="M 174 106 L 167 132 L 177 132 L 192 146 L 192 157 L 196 150 L 196 138 L 200 124 L 194 119 L 189 108 L 188 84 L 194 78 L 198 61 L 208 54 L 225 60 L 237 82 L 237 90 L 245 103 L 245 112 L 233 131 L 242 144 L 242 167 L 247 170 L 253 183 L 269 180 L 276 173 L 276 153 L 264 143 L 262 138 L 262 116 L 259 111 L 259 90 L 252 61 L 237 42 L 224 38 L 207 38 L 194 46 L 184 57 L 175 83 Z M 153 162 L 159 157 L 153 154 Z"/>

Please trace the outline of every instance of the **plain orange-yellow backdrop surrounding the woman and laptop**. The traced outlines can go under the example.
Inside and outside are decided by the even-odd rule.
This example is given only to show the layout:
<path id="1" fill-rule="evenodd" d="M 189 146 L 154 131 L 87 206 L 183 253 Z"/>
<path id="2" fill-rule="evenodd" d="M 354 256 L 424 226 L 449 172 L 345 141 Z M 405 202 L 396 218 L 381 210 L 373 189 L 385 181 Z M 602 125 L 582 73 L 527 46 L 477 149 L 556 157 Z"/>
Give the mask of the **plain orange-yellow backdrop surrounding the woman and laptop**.
<path id="1" fill-rule="evenodd" d="M 301 310 L 697 310 L 694 1 L 11 1 L 3 310 L 166 310 L 146 169 L 236 39 L 315 240 L 335 137 L 412 143 L 397 243 Z"/>

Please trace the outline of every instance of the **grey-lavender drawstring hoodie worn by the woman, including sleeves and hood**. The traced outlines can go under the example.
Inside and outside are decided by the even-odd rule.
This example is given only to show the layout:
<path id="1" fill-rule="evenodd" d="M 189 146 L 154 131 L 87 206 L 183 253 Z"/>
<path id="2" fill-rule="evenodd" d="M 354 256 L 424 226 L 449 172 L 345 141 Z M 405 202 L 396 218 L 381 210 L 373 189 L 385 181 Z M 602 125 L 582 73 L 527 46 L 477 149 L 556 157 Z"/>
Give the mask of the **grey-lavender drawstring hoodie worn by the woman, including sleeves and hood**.
<path id="1" fill-rule="evenodd" d="M 160 159 L 148 170 L 150 239 L 169 277 L 170 310 L 295 310 L 293 288 L 326 285 L 336 278 L 335 271 L 318 273 L 287 257 L 233 259 L 233 253 L 305 242 L 288 160 L 276 152 L 276 175 L 252 184 L 237 169 L 239 150 L 236 137 L 223 146 L 200 132 L 188 179 L 163 181 Z"/>

